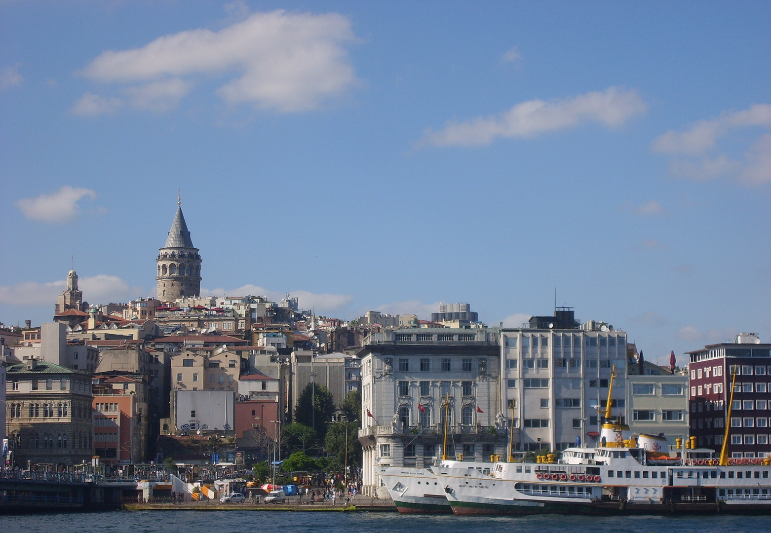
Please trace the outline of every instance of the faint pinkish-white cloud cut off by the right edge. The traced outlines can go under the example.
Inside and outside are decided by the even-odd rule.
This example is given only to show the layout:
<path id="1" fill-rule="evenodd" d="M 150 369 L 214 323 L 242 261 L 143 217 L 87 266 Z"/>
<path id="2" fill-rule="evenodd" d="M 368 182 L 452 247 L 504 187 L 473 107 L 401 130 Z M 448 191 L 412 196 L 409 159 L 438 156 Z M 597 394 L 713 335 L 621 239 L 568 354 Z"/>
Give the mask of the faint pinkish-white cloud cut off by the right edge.
<path id="1" fill-rule="evenodd" d="M 668 154 L 672 174 L 692 180 L 733 177 L 747 185 L 771 183 L 771 135 L 759 137 L 743 159 L 716 153 L 718 140 L 733 130 L 771 127 L 771 104 L 759 103 L 741 111 L 699 120 L 689 130 L 668 131 L 651 143 L 652 150 Z"/>

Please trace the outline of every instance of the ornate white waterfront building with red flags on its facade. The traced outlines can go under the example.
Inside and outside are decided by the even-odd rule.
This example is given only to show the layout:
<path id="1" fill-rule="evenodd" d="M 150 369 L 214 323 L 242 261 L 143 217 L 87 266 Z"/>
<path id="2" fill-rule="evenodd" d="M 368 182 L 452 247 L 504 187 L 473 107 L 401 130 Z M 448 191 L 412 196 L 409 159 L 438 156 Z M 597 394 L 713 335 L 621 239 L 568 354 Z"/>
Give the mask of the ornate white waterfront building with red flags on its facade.
<path id="1" fill-rule="evenodd" d="M 423 467 L 444 453 L 470 462 L 505 453 L 498 339 L 490 329 L 399 329 L 365 338 L 357 353 L 364 494 L 380 485 L 377 467 Z"/>

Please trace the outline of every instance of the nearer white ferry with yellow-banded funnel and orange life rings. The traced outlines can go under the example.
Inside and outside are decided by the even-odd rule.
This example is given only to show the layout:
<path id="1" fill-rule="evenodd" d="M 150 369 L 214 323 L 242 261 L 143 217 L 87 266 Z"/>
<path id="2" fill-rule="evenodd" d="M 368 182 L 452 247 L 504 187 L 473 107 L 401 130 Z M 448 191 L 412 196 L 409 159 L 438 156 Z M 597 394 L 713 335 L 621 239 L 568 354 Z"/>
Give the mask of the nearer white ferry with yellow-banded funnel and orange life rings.
<path id="1" fill-rule="evenodd" d="M 554 456 L 536 464 L 496 462 L 490 474 L 467 463 L 438 467 L 453 513 L 771 513 L 768 457 L 728 459 L 725 444 L 712 457 L 712 450 L 695 450 L 695 438 L 679 457 L 669 457 L 656 450 L 662 437 L 634 438 L 611 420 L 610 392 L 605 414 L 601 446 L 564 450 L 558 462 Z"/>

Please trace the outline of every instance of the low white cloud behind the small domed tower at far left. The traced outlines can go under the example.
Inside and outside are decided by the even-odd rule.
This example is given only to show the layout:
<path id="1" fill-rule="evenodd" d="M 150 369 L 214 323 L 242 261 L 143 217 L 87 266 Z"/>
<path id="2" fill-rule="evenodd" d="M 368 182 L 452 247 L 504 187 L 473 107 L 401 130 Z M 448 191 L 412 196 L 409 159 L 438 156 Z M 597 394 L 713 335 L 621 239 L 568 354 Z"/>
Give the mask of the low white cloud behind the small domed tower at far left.
<path id="1" fill-rule="evenodd" d="M 91 303 L 125 302 L 144 294 L 143 288 L 132 287 L 118 276 L 106 274 L 80 278 L 78 287 L 83 292 L 83 299 Z M 8 305 L 54 305 L 65 288 L 67 282 L 64 279 L 48 283 L 0 285 L 0 302 Z"/>

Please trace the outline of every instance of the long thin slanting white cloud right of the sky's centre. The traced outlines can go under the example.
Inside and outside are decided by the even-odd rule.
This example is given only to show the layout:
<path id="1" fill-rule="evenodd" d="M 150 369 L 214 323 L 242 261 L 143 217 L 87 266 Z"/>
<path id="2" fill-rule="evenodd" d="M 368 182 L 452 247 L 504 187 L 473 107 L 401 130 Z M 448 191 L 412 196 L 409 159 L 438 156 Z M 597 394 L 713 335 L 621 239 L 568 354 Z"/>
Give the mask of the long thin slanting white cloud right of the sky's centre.
<path id="1" fill-rule="evenodd" d="M 644 113 L 647 107 L 635 91 L 616 87 L 567 100 L 529 100 L 497 116 L 478 116 L 466 122 L 449 122 L 439 131 L 429 128 L 418 144 L 439 147 L 478 146 L 489 144 L 497 137 L 533 137 L 588 121 L 618 127 L 632 116 Z"/>

